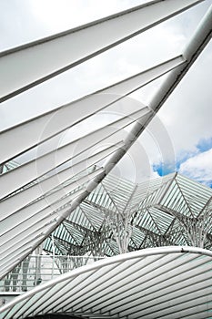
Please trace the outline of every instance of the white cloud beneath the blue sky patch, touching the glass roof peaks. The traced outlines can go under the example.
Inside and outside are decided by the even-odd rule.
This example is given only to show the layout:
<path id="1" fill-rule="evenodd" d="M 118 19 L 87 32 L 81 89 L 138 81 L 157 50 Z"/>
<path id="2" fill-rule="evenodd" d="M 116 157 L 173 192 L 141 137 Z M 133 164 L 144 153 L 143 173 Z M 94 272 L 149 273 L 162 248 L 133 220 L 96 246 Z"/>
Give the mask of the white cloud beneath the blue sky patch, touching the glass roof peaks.
<path id="1" fill-rule="evenodd" d="M 212 184 L 212 149 L 197 154 L 180 165 L 179 173 L 200 181 L 207 186 Z"/>

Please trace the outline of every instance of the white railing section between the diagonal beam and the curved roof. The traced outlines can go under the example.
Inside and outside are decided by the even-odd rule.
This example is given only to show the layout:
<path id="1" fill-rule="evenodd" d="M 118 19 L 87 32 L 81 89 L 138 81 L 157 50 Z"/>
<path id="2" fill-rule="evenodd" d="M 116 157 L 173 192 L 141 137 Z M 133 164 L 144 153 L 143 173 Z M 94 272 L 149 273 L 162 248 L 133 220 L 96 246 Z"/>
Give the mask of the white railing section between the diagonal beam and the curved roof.
<path id="1" fill-rule="evenodd" d="M 0 281 L 0 291 L 26 292 L 62 273 L 100 259 L 104 257 L 29 255 Z"/>

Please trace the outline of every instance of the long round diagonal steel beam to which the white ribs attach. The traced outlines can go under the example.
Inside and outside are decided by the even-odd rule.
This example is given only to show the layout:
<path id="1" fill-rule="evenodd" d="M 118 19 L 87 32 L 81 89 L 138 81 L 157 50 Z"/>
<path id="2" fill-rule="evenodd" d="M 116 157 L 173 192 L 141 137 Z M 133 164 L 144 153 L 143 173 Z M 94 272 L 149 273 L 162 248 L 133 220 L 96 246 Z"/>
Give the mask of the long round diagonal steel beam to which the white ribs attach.
<path id="1" fill-rule="evenodd" d="M 156 112 L 159 108 L 162 107 L 172 91 L 177 87 L 177 84 L 180 82 L 180 80 L 187 74 L 187 70 L 189 69 L 189 67 L 193 65 L 196 58 L 200 55 L 204 47 L 207 45 L 211 37 L 211 30 L 212 7 L 207 12 L 207 15 L 204 17 L 201 25 L 197 28 L 197 33 L 195 34 L 195 36 L 192 37 L 187 46 L 187 49 L 185 50 L 187 62 L 183 66 L 177 67 L 176 70 L 171 71 L 164 85 L 160 87 L 159 91 L 156 94 L 156 97 L 153 98 L 152 102 L 150 103 L 150 107 L 153 111 Z M 65 211 L 59 217 L 59 219 L 56 221 L 56 224 L 49 227 L 49 229 L 44 233 L 44 236 L 41 240 L 35 241 L 31 245 L 31 251 L 33 251 L 35 247 L 38 246 L 40 242 L 42 242 L 48 236 L 49 233 L 53 232 L 56 229 L 57 225 L 60 224 L 72 211 L 74 211 L 81 201 L 84 201 L 86 199 L 87 195 L 96 188 L 98 183 L 103 180 L 105 176 L 110 172 L 110 170 L 112 170 L 116 166 L 116 163 L 122 159 L 122 157 L 126 154 L 126 151 L 132 146 L 132 144 L 140 136 L 143 130 L 146 129 L 146 125 L 153 117 L 154 114 L 151 113 L 146 119 L 140 118 L 139 120 L 137 120 L 136 125 L 125 139 L 125 146 L 122 149 L 118 150 L 109 160 L 106 161 L 104 165 L 104 172 L 99 174 L 97 178 L 91 180 L 88 183 L 86 190 L 83 191 L 81 195 L 77 196 L 74 201 L 72 201 L 70 209 Z M 15 264 L 20 262 L 20 259 L 24 259 L 25 255 L 27 254 L 28 250 L 22 252 L 21 255 L 19 254 L 18 259 L 16 256 L 13 262 L 10 262 L 7 271 L 13 269 L 15 267 Z"/>

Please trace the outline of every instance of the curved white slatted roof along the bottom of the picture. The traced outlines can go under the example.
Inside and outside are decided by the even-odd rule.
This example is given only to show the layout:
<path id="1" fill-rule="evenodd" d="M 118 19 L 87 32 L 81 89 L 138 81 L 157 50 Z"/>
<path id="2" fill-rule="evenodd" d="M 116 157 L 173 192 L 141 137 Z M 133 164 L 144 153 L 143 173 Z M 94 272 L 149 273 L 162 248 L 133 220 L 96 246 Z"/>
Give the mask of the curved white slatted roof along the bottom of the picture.
<path id="1" fill-rule="evenodd" d="M 2 307 L 0 318 L 52 313 L 209 318 L 211 273 L 207 250 L 179 246 L 127 252 L 37 286 Z"/>

